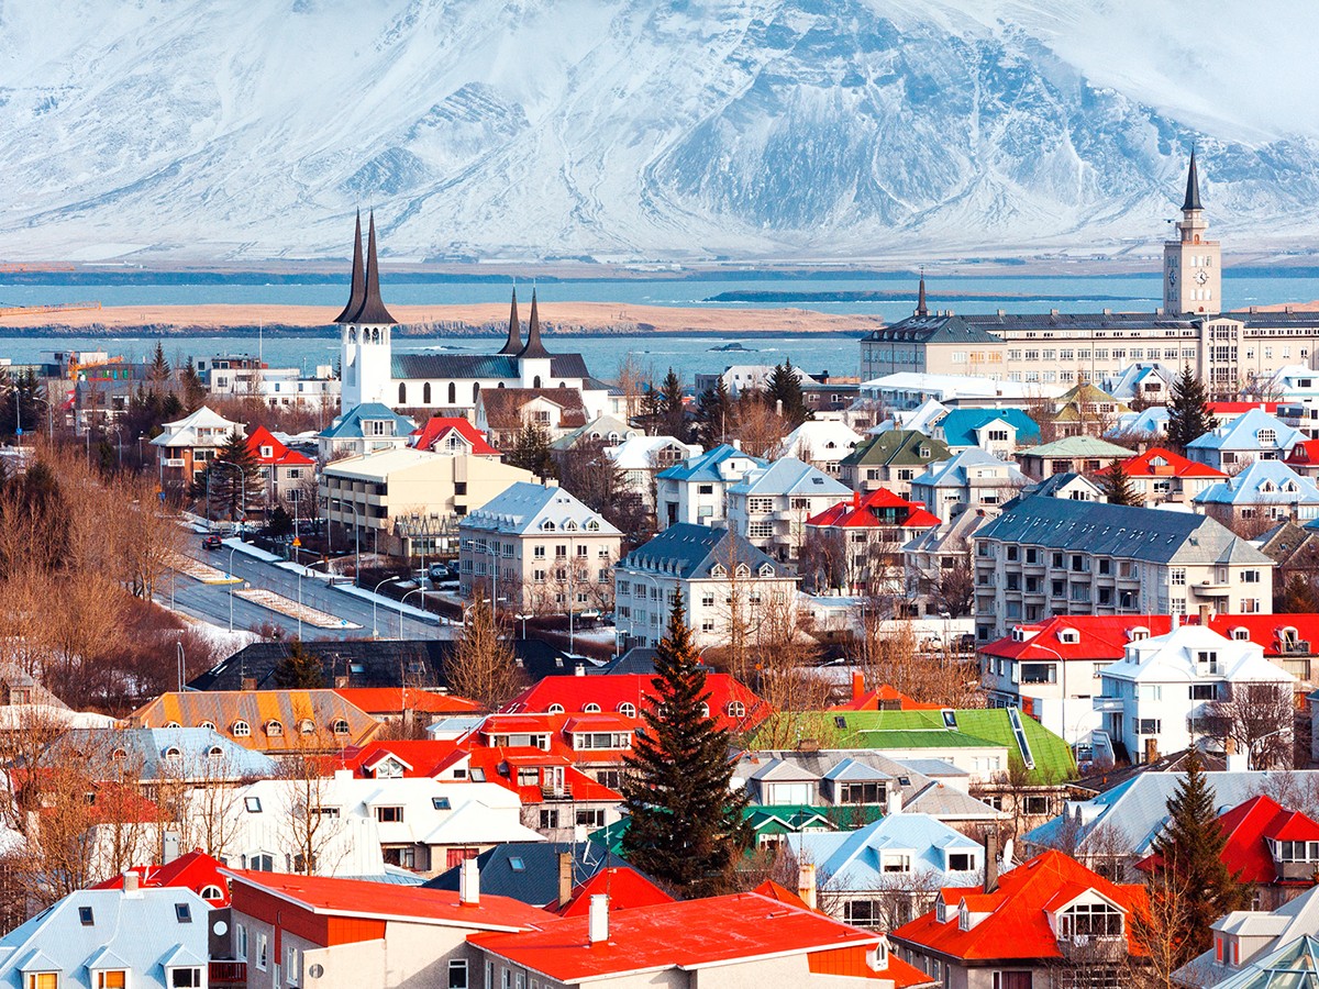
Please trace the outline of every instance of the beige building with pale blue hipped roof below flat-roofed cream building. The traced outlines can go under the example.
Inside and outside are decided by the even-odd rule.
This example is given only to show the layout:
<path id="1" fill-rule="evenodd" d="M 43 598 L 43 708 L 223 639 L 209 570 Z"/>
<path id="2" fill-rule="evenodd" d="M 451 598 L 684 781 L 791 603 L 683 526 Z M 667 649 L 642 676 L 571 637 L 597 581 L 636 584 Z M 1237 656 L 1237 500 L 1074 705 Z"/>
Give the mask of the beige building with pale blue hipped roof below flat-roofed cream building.
<path id="1" fill-rule="evenodd" d="M 520 481 L 459 522 L 458 580 L 501 608 L 558 614 L 613 604 L 623 533 L 559 487 Z"/>

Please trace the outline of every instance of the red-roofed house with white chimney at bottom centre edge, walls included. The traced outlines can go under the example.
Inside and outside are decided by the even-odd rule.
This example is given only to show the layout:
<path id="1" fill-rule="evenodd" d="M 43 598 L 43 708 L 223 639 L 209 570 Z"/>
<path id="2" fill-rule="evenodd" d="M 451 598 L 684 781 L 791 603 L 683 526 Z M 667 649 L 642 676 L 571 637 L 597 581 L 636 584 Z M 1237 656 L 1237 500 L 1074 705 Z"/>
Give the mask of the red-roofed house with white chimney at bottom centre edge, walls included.
<path id="1" fill-rule="evenodd" d="M 690 973 L 683 982 L 702 985 L 707 980 L 718 985 L 754 981 L 823 989 L 836 985 L 838 976 L 873 978 L 876 986 L 933 985 L 906 965 L 890 973 L 897 960 L 882 935 L 757 893 L 620 911 L 596 897 L 586 915 L 533 931 L 477 934 L 468 944 L 493 967 L 499 985 L 505 984 L 501 980 L 509 985 L 536 980 L 580 986 L 642 974 L 649 982 L 667 984 L 671 980 L 663 973 L 670 972 Z"/>

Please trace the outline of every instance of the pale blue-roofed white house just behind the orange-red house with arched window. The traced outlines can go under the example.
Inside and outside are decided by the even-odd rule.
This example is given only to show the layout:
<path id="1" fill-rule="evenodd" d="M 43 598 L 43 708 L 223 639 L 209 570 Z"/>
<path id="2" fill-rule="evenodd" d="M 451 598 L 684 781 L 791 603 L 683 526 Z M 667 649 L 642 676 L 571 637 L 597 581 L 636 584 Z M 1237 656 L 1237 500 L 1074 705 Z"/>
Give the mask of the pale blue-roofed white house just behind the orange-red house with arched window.
<path id="1" fill-rule="evenodd" d="M 820 907 L 843 923 L 893 930 L 934 906 L 942 886 L 980 881 L 985 849 L 926 814 L 889 814 L 859 831 L 786 835 L 813 865 Z"/>

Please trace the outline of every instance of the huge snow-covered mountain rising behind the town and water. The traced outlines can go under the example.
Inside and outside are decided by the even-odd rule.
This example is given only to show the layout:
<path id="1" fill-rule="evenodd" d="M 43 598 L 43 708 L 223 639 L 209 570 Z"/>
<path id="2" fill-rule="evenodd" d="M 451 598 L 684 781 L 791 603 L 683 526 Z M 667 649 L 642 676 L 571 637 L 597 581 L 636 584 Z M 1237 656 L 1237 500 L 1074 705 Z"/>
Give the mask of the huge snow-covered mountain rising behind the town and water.
<path id="1" fill-rule="evenodd" d="M 1083 8 L 1083 9 L 1082 9 Z M 1268 20 L 1264 20 L 1268 17 Z M 1319 219 L 1308 0 L 0 0 L 0 257 L 1113 253 Z"/>

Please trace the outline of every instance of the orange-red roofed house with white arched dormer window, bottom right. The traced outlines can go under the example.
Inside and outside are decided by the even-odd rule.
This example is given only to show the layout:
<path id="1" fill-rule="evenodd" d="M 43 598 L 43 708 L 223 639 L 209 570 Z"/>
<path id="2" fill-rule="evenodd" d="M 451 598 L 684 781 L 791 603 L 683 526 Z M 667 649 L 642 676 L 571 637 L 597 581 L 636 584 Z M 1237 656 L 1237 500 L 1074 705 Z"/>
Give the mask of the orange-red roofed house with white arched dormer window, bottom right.
<path id="1" fill-rule="evenodd" d="M 997 884 L 950 886 L 935 909 L 890 938 L 926 972 L 951 972 L 947 984 L 969 981 L 969 969 L 992 969 L 995 985 L 1051 985 L 1050 974 L 1079 944 L 1117 948 L 1111 964 L 1120 976 L 1126 955 L 1144 952 L 1132 931 L 1133 913 L 1146 910 L 1145 887 L 1117 885 L 1062 852 L 1045 852 L 1002 873 Z M 1089 952 L 1089 967 L 1105 964 Z M 946 972 L 946 977 L 947 977 Z M 960 978 L 958 973 L 960 972 Z M 1033 977 L 1033 982 L 1030 977 Z"/>

